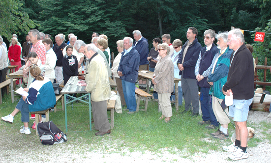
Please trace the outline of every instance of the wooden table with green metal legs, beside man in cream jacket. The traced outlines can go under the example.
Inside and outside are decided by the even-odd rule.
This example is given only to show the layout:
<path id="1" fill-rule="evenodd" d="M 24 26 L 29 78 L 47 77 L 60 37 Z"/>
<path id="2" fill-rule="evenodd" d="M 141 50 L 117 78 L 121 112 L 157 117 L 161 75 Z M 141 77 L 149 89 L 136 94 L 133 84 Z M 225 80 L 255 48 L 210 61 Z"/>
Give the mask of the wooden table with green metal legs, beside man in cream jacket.
<path id="1" fill-rule="evenodd" d="M 61 94 L 64 95 L 64 107 L 65 107 L 65 126 L 66 126 L 66 133 L 68 132 L 68 122 L 67 122 L 67 104 L 73 103 L 76 100 L 79 100 L 87 105 L 89 105 L 89 111 L 90 111 L 90 131 L 91 131 L 91 103 L 90 103 L 90 92 L 87 92 L 85 90 L 86 86 L 77 86 L 78 82 L 77 77 L 70 77 L 70 79 L 67 81 L 66 85 L 64 88 L 61 90 Z M 73 97 L 68 94 L 74 94 L 74 93 L 82 93 L 84 94 L 83 96 L 80 97 Z M 66 96 L 72 98 L 71 101 L 66 102 Z M 82 100 L 81 98 L 89 96 L 89 100 Z"/>

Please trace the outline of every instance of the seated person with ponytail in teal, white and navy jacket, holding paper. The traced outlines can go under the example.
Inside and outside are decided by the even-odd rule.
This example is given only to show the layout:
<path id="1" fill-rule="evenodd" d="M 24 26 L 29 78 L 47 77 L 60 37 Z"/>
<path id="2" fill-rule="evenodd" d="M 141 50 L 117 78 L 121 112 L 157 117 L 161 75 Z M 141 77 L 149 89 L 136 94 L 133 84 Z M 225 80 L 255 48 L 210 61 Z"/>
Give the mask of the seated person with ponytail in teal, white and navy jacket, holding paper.
<path id="1" fill-rule="evenodd" d="M 30 66 L 30 75 L 34 81 L 29 88 L 24 88 L 29 95 L 21 97 L 11 114 L 1 117 L 3 121 L 13 123 L 14 116 L 21 111 L 21 121 L 24 122 L 24 127 L 20 130 L 21 134 L 31 134 L 28 127 L 29 112 L 46 110 L 56 105 L 56 95 L 51 81 L 40 74 L 40 69 L 36 64 Z"/>

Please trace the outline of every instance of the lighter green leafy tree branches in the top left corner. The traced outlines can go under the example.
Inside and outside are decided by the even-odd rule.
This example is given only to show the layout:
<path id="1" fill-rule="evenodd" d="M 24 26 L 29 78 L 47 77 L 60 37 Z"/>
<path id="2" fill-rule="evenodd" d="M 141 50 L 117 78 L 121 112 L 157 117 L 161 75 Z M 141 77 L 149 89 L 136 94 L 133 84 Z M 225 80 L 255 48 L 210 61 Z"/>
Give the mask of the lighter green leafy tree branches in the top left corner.
<path id="1" fill-rule="evenodd" d="M 23 4 L 20 0 L 0 0 L 0 34 L 11 38 L 13 33 L 27 33 L 37 26 L 27 13 L 18 10 Z"/>

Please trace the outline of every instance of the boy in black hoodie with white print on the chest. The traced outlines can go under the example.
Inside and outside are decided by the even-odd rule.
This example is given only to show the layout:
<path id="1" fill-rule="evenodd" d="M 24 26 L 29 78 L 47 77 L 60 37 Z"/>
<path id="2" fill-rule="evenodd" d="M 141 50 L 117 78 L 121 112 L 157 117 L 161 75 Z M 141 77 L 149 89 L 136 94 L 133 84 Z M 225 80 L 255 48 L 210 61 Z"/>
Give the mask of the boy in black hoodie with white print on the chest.
<path id="1" fill-rule="evenodd" d="M 78 61 L 76 56 L 72 55 L 73 47 L 71 45 L 66 46 L 66 55 L 63 57 L 63 78 L 64 85 L 72 76 L 78 76 Z"/>

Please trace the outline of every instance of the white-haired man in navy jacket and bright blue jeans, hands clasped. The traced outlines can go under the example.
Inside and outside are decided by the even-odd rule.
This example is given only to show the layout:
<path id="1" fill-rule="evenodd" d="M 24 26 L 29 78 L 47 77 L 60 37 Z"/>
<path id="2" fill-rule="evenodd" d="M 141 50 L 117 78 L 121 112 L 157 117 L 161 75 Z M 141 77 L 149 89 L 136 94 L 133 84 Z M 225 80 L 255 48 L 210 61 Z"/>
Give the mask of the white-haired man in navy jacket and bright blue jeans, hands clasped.
<path id="1" fill-rule="evenodd" d="M 128 114 L 136 111 L 135 82 L 138 78 L 140 56 L 133 45 L 131 37 L 123 39 L 124 51 L 121 53 L 118 75 L 122 82 L 122 89 Z"/>

